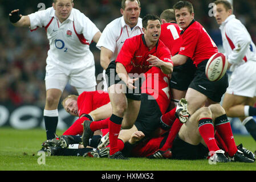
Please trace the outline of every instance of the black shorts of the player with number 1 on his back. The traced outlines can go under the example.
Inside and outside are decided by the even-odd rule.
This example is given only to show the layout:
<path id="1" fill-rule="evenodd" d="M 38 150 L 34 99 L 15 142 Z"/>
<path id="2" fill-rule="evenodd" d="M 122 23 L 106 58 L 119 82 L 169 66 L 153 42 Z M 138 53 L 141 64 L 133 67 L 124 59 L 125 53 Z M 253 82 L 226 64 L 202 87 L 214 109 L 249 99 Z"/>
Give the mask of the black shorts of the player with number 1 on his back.
<path id="1" fill-rule="evenodd" d="M 190 82 L 196 73 L 196 65 L 191 59 L 185 64 L 173 67 L 172 77 L 170 78 L 170 88 L 177 90 L 188 90 Z"/>

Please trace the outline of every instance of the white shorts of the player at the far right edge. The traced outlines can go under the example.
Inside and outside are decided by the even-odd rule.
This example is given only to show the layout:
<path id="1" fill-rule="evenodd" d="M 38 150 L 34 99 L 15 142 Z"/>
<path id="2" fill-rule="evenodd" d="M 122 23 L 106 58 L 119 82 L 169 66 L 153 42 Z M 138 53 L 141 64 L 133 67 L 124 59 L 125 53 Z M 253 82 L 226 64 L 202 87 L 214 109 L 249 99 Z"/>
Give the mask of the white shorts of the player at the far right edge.
<path id="1" fill-rule="evenodd" d="M 256 62 L 248 61 L 235 68 L 231 74 L 226 93 L 236 96 L 256 96 Z"/>

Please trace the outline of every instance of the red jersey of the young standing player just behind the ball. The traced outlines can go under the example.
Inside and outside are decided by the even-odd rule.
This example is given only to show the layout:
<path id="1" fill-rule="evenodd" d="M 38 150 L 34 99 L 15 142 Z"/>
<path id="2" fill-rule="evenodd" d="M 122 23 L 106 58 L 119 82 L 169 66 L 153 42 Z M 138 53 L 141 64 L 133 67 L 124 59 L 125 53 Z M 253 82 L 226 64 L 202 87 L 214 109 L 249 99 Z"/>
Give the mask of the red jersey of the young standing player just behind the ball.
<path id="1" fill-rule="evenodd" d="M 182 44 L 178 54 L 190 57 L 196 65 L 218 52 L 212 38 L 196 20 L 192 20 L 190 25 L 180 34 Z"/>

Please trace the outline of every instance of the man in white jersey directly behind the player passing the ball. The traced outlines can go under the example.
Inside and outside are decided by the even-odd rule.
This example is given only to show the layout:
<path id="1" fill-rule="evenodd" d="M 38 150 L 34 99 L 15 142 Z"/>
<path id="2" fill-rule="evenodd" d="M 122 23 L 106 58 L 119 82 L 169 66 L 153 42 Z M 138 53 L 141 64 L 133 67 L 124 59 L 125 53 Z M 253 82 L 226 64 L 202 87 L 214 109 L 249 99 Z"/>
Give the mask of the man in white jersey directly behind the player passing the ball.
<path id="1" fill-rule="evenodd" d="M 123 15 L 116 18 L 104 28 L 96 47 L 100 51 L 100 64 L 103 70 L 104 91 L 108 91 L 105 81 L 105 69 L 108 64 L 116 60 L 124 41 L 135 35 L 143 34 L 142 19 L 140 16 L 139 0 L 122 0 L 120 13 Z"/>

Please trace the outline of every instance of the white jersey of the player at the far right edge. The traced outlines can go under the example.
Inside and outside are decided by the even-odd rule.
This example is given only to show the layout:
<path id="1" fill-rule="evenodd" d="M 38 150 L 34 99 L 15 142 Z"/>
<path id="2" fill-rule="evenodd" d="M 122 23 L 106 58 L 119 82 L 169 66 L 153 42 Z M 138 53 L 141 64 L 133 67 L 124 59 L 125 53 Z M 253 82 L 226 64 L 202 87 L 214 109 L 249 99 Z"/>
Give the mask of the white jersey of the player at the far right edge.
<path id="1" fill-rule="evenodd" d="M 220 26 L 225 55 L 231 66 L 235 67 L 247 61 L 256 61 L 256 48 L 249 32 L 235 15 L 230 15 Z"/>

